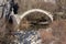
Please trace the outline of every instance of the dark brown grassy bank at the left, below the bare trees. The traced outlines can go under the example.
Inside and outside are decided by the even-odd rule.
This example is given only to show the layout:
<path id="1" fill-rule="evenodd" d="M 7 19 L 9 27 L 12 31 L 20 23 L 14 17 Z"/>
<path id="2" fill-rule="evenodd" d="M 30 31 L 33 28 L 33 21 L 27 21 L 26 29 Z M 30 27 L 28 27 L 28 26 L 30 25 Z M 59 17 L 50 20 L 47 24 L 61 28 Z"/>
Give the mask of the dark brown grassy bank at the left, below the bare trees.
<path id="1" fill-rule="evenodd" d="M 6 19 L 0 19 L 0 44 L 10 44 L 13 40 L 11 32 L 14 31 L 13 24 L 9 24 Z"/>

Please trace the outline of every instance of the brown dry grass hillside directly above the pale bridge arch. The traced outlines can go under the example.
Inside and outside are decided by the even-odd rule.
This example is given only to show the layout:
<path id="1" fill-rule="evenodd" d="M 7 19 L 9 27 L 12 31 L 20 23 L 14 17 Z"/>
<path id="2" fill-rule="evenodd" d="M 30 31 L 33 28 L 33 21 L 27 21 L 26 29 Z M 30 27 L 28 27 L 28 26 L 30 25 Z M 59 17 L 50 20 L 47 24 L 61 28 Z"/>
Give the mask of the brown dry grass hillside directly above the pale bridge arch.
<path id="1" fill-rule="evenodd" d="M 51 12 L 54 12 L 55 10 L 58 9 L 56 4 L 36 0 L 18 0 L 18 4 L 19 4 L 19 13 L 23 13 L 30 9 L 43 9 Z"/>

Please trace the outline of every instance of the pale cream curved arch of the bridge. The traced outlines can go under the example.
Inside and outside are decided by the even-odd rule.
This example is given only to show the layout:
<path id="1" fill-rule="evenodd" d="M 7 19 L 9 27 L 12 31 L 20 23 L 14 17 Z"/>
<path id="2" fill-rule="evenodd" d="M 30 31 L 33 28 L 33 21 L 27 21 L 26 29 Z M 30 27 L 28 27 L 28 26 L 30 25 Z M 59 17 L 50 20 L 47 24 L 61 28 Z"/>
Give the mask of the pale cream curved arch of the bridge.
<path id="1" fill-rule="evenodd" d="M 23 20 L 23 18 L 25 16 L 25 15 L 28 15 L 28 14 L 30 14 L 30 13 L 32 13 L 32 12 L 41 12 L 41 13 L 44 13 L 44 14 L 46 14 L 50 19 L 51 19 L 51 21 L 53 22 L 53 15 L 50 13 L 50 12 L 47 12 L 47 11 L 45 11 L 45 10 L 42 10 L 42 9 L 32 9 L 32 10 L 28 10 L 26 12 L 24 12 L 23 14 L 21 14 L 19 18 L 20 18 L 20 20 L 18 19 L 16 21 L 18 21 L 18 24 L 21 22 L 21 20 Z"/>

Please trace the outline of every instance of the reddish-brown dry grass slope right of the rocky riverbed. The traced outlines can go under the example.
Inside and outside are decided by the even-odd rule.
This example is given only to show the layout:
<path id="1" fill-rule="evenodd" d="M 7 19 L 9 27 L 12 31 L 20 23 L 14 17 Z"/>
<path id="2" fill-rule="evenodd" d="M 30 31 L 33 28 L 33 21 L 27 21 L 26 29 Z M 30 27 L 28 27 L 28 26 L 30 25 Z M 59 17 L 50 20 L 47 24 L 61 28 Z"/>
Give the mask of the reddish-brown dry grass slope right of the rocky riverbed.
<path id="1" fill-rule="evenodd" d="M 41 30 L 41 37 L 43 44 L 50 44 L 50 42 L 55 41 L 54 44 L 66 44 L 66 21 L 54 21 L 51 24 L 52 32 L 46 32 Z M 56 40 L 59 38 L 59 40 Z M 46 41 L 46 42 L 45 42 Z"/>

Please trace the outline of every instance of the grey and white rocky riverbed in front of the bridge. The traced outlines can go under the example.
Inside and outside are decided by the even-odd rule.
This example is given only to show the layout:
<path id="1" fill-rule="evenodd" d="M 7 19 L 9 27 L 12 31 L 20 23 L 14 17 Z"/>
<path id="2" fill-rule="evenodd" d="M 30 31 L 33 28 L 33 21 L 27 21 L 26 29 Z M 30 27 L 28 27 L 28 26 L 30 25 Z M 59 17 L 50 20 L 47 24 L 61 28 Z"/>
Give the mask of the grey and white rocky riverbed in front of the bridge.
<path id="1" fill-rule="evenodd" d="M 41 44 L 42 40 L 37 31 L 15 32 L 14 42 L 18 44 Z"/>

